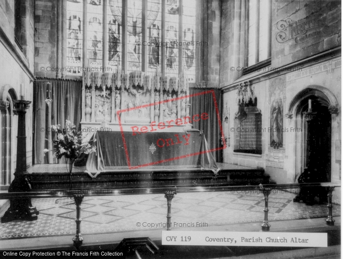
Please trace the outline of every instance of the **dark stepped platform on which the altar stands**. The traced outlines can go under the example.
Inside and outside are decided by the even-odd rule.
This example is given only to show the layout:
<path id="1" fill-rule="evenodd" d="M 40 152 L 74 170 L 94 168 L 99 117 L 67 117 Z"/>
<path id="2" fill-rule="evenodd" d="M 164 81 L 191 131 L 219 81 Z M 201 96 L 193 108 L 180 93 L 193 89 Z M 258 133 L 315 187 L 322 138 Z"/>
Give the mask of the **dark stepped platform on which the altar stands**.
<path id="1" fill-rule="evenodd" d="M 220 185 L 255 185 L 271 183 L 264 169 L 217 163 L 217 175 L 211 170 L 195 166 L 153 166 L 140 169 L 106 168 L 95 179 L 85 173 L 84 167 L 73 167 L 73 189 L 106 189 L 128 187 L 186 187 Z M 32 190 L 66 189 L 70 176 L 65 164 L 34 165 L 27 170 Z"/>

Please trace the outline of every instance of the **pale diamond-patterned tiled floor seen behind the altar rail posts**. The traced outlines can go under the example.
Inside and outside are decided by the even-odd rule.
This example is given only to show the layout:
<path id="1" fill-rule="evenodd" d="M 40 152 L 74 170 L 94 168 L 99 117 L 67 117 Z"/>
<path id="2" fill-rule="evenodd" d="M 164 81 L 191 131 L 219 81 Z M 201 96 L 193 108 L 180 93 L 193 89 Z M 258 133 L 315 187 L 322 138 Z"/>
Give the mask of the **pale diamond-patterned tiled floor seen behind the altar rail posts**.
<path id="1" fill-rule="evenodd" d="M 327 217 L 326 205 L 293 203 L 293 193 L 270 194 L 269 220 Z M 39 210 L 37 221 L 0 224 L 0 238 L 64 235 L 75 233 L 75 205 L 70 199 L 33 199 Z M 167 202 L 163 194 L 86 197 L 81 205 L 81 233 L 165 229 Z M 262 222 L 263 194 L 237 192 L 179 193 L 172 200 L 172 227 L 218 226 Z M 333 215 L 341 207 L 334 205 Z M 0 215 L 2 216 L 2 215 Z M 157 226 L 151 227 L 150 224 Z M 159 224 L 159 225 L 158 225 Z M 177 229 L 177 228 L 172 228 Z"/>

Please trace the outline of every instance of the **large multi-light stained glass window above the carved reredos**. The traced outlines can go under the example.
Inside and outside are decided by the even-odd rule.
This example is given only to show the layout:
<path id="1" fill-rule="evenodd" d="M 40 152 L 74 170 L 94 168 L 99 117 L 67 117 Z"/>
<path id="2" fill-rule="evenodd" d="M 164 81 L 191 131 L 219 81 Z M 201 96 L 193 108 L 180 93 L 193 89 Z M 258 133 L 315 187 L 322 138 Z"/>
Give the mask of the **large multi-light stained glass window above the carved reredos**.
<path id="1" fill-rule="evenodd" d="M 143 28 L 144 2 L 147 20 Z M 112 72 L 119 68 L 126 73 L 142 69 L 154 73 L 159 67 L 164 73 L 162 76 L 178 77 L 182 71 L 189 82 L 195 82 L 198 1 L 127 0 L 125 3 L 127 31 L 124 33 L 127 37 L 123 38 L 123 0 L 67 0 L 68 66 L 108 66 Z M 86 16 L 84 7 L 87 7 Z M 143 34 L 146 42 L 142 42 Z M 86 46 L 83 46 L 83 39 Z M 86 48 L 85 52 L 83 48 Z M 127 58 L 123 59 L 123 56 Z M 72 74 L 80 76 L 81 72 L 76 70 Z"/>

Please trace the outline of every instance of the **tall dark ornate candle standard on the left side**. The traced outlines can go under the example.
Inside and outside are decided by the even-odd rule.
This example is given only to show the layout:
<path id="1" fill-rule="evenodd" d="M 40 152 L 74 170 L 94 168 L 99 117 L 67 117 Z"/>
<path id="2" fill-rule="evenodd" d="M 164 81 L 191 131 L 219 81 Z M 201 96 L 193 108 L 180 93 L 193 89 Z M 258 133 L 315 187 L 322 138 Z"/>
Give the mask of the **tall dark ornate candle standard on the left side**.
<path id="1" fill-rule="evenodd" d="M 17 165 L 14 180 L 8 192 L 29 192 L 31 185 L 26 171 L 25 114 L 30 101 L 13 100 L 14 113 L 18 115 Z M 37 220 L 39 212 L 31 204 L 31 198 L 10 199 L 10 207 L 1 218 L 1 223 L 12 220 Z"/>

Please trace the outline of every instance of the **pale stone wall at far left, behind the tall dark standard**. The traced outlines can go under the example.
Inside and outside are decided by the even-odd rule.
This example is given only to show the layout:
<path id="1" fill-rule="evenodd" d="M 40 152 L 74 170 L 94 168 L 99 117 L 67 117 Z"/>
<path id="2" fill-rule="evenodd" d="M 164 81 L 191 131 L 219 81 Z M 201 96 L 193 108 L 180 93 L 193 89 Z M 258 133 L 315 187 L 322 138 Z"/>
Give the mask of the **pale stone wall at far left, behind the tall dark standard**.
<path id="1" fill-rule="evenodd" d="M 19 42 L 15 41 L 14 0 L 0 1 L 0 92 L 8 93 L 11 89 L 19 99 L 20 85 L 24 85 L 25 100 L 33 101 L 30 80 L 34 79 L 34 0 L 20 1 L 21 33 Z M 2 99 L 2 96 L 0 96 Z M 5 101 L 5 100 L 3 100 Z M 30 104 L 26 111 L 26 157 L 27 165 L 32 163 L 32 125 L 33 107 Z M 16 166 L 18 116 L 12 115 L 11 128 L 11 181 L 13 181 Z M 2 138 L 2 136 L 1 136 Z"/>

